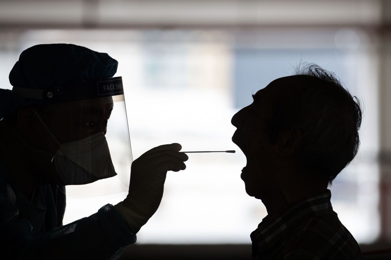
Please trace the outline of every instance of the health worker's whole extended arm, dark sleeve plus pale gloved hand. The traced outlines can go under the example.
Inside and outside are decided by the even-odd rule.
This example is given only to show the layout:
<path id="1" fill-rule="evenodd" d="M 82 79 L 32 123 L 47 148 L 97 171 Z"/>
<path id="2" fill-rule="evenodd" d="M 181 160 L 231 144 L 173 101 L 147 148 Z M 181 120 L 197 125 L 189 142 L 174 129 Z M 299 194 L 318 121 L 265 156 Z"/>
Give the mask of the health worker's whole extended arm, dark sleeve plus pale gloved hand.
<path id="1" fill-rule="evenodd" d="M 147 151 L 132 164 L 124 201 L 45 233 L 32 233 L 29 221 L 17 219 L 18 207 L 0 195 L 0 250 L 5 259 L 103 260 L 119 255 L 136 242 L 135 233 L 158 209 L 167 171 L 186 168 L 188 157 L 179 150 L 181 145 L 175 143 Z"/>

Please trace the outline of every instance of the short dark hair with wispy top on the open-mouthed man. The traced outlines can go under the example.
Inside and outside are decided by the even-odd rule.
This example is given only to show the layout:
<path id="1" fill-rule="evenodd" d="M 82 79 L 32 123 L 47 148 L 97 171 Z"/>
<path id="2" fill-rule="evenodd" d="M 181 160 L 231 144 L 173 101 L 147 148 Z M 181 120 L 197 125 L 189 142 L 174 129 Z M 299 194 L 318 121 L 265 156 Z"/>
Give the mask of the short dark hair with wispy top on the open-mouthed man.
<path id="1" fill-rule="evenodd" d="M 300 87 L 284 90 L 273 102 L 269 139 L 274 143 L 280 132 L 298 128 L 300 166 L 332 184 L 359 149 L 361 103 L 334 73 L 316 64 L 299 64 L 295 75 Z"/>

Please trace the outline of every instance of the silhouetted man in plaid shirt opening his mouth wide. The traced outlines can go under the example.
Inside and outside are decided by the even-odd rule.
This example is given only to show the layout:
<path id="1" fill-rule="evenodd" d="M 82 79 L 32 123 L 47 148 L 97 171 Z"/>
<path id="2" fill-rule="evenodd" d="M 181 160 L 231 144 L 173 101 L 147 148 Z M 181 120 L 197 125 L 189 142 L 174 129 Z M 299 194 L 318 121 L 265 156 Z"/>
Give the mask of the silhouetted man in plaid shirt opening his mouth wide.
<path id="1" fill-rule="evenodd" d="M 235 114 L 241 178 L 268 215 L 251 233 L 251 259 L 362 259 L 327 189 L 359 148 L 361 107 L 314 64 L 278 78 Z"/>

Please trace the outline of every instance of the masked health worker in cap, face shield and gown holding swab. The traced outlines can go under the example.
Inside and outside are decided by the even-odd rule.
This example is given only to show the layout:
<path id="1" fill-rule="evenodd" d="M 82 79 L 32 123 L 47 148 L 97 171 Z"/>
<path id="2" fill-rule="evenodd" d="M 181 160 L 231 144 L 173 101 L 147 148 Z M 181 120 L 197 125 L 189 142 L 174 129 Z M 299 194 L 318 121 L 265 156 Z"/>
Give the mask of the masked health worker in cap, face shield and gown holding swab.
<path id="1" fill-rule="evenodd" d="M 124 201 L 63 225 L 65 185 L 130 170 L 117 66 L 107 53 L 71 44 L 32 46 L 14 65 L 12 91 L 0 89 L 2 259 L 118 259 L 158 209 L 167 171 L 186 168 L 180 144 L 153 148 L 131 165 Z M 116 165 L 108 134 L 123 136 L 122 146 L 111 146 L 122 156 Z"/>

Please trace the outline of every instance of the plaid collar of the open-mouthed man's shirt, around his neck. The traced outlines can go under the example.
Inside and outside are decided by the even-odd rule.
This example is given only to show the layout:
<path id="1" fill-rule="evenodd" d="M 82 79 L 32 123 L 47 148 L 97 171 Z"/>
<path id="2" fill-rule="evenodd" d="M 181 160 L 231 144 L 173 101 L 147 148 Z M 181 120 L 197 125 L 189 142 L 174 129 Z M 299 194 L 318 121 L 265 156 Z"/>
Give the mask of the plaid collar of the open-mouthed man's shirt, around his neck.
<path id="1" fill-rule="evenodd" d="M 259 252 L 271 248 L 291 228 L 305 219 L 332 213 L 330 199 L 331 191 L 327 189 L 292 206 L 283 214 L 267 215 L 259 223 L 258 228 L 251 233 L 251 241 L 258 245 Z"/>

